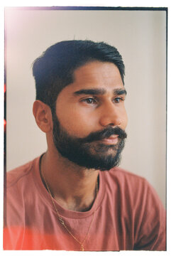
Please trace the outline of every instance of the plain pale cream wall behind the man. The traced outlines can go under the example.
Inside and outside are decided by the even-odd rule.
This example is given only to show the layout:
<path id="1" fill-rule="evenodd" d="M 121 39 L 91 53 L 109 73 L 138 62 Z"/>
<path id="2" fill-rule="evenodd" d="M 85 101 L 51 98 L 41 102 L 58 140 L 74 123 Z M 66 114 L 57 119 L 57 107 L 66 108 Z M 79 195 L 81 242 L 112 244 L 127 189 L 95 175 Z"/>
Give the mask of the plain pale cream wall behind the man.
<path id="1" fill-rule="evenodd" d="M 166 12 L 6 9 L 6 169 L 46 149 L 32 114 L 31 64 L 52 44 L 105 41 L 126 65 L 128 139 L 121 167 L 147 178 L 165 204 Z"/>

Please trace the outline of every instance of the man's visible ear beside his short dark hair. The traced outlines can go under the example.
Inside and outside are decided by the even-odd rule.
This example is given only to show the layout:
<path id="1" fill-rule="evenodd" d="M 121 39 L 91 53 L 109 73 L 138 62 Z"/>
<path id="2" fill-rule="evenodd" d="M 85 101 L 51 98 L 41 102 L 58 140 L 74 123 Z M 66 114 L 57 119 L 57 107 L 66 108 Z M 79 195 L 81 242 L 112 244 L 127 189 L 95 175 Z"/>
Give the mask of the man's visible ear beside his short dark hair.
<path id="1" fill-rule="evenodd" d="M 33 103 L 33 115 L 38 127 L 45 133 L 53 129 L 53 120 L 50 107 L 40 100 Z"/>

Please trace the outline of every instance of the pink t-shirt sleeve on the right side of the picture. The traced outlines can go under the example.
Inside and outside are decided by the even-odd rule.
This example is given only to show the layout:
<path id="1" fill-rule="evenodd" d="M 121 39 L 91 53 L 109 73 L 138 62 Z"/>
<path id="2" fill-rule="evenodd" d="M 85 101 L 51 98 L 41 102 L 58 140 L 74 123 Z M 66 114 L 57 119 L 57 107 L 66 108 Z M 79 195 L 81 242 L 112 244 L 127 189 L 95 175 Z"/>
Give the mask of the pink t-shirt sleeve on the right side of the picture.
<path id="1" fill-rule="evenodd" d="M 142 193 L 136 212 L 134 250 L 166 250 L 165 209 L 147 181 Z"/>

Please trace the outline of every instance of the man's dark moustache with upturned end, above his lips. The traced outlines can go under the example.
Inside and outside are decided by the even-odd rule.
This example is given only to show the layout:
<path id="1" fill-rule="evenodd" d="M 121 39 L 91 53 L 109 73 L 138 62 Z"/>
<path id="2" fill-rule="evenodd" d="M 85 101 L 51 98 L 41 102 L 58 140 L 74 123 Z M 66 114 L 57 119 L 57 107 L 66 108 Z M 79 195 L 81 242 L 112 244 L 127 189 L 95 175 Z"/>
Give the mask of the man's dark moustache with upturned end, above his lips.
<path id="1" fill-rule="evenodd" d="M 118 138 L 120 139 L 126 139 L 127 137 L 126 132 L 120 127 L 106 127 L 102 131 L 92 132 L 85 138 L 79 138 L 79 142 L 82 142 L 82 143 L 94 142 L 101 139 L 107 139 L 111 135 L 118 135 Z"/>

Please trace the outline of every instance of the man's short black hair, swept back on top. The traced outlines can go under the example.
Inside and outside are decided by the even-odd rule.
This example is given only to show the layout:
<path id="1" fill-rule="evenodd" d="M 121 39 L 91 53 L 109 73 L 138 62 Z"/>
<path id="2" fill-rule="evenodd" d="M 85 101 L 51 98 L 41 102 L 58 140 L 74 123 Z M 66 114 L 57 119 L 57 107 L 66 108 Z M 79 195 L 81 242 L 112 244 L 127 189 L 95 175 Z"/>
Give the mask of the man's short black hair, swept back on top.
<path id="1" fill-rule="evenodd" d="M 61 41 L 50 46 L 33 63 L 36 100 L 49 105 L 53 111 L 57 95 L 74 81 L 74 71 L 96 60 L 114 63 L 124 84 L 125 66 L 114 46 L 89 40 Z"/>

